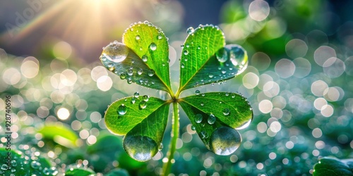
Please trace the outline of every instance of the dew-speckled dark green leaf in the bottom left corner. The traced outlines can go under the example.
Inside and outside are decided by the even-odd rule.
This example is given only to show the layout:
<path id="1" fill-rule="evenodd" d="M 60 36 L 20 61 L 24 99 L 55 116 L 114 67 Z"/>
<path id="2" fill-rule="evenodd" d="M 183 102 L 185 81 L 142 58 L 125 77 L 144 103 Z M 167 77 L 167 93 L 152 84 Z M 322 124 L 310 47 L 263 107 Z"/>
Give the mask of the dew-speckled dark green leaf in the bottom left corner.
<path id="1" fill-rule="evenodd" d="M 42 156 L 37 159 L 25 156 L 22 151 L 0 148 L 0 175 L 56 175 L 58 170 Z M 26 159 L 27 158 L 27 159 Z"/>

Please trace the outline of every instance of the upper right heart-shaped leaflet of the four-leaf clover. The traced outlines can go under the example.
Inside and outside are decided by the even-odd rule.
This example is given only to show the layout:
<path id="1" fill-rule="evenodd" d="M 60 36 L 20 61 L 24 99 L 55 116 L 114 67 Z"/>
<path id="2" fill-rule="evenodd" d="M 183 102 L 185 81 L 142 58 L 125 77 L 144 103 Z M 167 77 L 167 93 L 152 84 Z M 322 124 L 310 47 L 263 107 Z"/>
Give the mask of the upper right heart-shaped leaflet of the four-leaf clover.
<path id="1" fill-rule="evenodd" d="M 184 43 L 180 62 L 180 91 L 229 80 L 245 70 L 246 51 L 239 45 L 225 46 L 219 27 L 200 25 Z"/>

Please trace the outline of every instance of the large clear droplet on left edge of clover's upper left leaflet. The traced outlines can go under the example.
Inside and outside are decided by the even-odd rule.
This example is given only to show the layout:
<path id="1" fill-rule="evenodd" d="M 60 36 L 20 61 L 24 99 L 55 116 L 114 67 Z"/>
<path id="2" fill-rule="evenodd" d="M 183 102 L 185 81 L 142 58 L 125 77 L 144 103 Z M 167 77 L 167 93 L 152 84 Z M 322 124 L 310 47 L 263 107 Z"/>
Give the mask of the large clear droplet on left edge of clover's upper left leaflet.
<path id="1" fill-rule="evenodd" d="M 100 59 L 102 61 L 112 61 L 114 63 L 121 63 L 128 56 L 128 47 L 119 42 L 112 42 L 104 47 Z"/>

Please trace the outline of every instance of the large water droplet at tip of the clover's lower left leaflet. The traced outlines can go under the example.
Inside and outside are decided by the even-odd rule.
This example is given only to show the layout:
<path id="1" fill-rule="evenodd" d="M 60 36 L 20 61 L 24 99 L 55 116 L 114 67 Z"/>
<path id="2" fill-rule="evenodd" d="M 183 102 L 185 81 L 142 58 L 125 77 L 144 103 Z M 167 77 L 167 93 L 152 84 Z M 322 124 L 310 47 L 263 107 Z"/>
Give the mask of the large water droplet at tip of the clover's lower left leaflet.
<path id="1" fill-rule="evenodd" d="M 153 139 L 140 135 L 125 137 L 123 146 L 126 153 L 137 161 L 148 161 L 158 152 Z"/>

